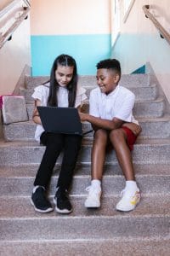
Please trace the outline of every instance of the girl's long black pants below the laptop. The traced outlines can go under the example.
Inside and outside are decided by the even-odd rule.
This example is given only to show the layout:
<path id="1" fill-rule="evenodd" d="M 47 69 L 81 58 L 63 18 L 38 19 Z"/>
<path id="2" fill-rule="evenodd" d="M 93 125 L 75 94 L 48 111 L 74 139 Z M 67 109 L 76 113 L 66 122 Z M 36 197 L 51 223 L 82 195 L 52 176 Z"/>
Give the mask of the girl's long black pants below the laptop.
<path id="1" fill-rule="evenodd" d="M 46 146 L 46 149 L 37 171 L 34 186 L 39 185 L 45 187 L 45 189 L 48 188 L 56 160 L 63 150 L 63 160 L 57 187 L 69 189 L 77 163 L 77 155 L 82 143 L 82 137 L 78 135 L 43 132 L 40 140 Z"/>

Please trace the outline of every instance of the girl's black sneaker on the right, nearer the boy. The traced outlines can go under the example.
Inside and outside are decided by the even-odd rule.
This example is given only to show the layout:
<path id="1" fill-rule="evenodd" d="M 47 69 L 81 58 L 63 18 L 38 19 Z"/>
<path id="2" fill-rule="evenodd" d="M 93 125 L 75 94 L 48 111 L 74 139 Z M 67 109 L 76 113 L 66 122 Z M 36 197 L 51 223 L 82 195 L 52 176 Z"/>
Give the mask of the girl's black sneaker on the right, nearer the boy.
<path id="1" fill-rule="evenodd" d="M 71 202 L 69 201 L 66 190 L 57 189 L 57 192 L 54 196 L 55 210 L 59 213 L 71 213 L 72 207 Z"/>

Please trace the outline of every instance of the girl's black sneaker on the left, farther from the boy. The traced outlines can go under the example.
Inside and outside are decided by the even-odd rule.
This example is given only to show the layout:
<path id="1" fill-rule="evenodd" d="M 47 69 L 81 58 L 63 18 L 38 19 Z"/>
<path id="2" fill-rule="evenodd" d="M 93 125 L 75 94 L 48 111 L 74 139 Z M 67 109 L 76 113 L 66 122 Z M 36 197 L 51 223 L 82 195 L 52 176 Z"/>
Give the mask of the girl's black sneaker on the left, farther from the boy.
<path id="1" fill-rule="evenodd" d="M 36 212 L 52 212 L 54 208 L 47 200 L 45 189 L 38 187 L 31 195 L 31 204 Z"/>

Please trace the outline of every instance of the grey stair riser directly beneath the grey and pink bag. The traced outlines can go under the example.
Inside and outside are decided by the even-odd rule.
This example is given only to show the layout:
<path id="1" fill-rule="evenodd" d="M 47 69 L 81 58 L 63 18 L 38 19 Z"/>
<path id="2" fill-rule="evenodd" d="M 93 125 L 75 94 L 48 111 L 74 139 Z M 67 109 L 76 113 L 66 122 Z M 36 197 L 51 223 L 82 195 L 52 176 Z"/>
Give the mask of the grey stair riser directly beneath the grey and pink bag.
<path id="1" fill-rule="evenodd" d="M 140 137 L 148 138 L 166 138 L 170 137 L 170 116 L 165 115 L 161 118 L 139 118 L 139 124 L 142 126 Z M 82 130 L 90 131 L 91 125 L 86 122 L 82 124 Z M 17 140 L 34 140 L 36 125 L 32 121 L 13 123 L 3 125 L 3 135 L 7 141 Z M 163 131 L 163 132 L 162 132 Z M 94 133 L 90 132 L 85 137 L 94 137 Z"/>

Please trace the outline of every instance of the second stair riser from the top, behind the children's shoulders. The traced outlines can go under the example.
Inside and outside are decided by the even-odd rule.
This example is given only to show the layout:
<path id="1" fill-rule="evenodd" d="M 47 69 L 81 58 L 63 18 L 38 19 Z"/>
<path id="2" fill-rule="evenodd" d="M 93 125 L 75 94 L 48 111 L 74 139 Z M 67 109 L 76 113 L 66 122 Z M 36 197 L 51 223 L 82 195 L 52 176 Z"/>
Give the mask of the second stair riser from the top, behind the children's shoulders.
<path id="1" fill-rule="evenodd" d="M 86 86 L 86 95 L 89 97 L 90 91 L 94 89 L 97 85 L 95 86 Z M 128 88 L 128 87 L 127 87 Z M 130 87 L 128 88 L 131 90 L 134 95 L 136 96 L 136 100 L 143 100 L 143 101 L 148 101 L 148 100 L 155 100 L 157 97 L 157 87 L 156 84 L 150 85 L 150 86 L 137 86 L 137 87 Z M 26 102 L 33 102 L 33 98 L 31 97 L 33 93 L 33 88 L 31 89 L 20 89 L 20 95 L 25 96 Z"/>

